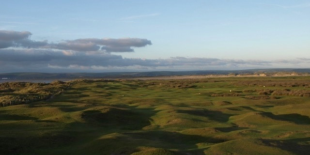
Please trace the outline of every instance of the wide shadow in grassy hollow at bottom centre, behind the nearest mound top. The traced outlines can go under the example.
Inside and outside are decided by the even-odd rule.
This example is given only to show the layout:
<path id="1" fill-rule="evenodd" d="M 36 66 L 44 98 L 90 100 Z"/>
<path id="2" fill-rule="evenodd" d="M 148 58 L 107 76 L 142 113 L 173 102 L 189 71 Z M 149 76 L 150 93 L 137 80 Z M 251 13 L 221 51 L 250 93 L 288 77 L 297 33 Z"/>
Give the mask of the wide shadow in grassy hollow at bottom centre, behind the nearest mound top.
<path id="1" fill-rule="evenodd" d="M 174 150 L 176 155 L 204 155 L 203 150 L 197 150 L 197 143 L 220 143 L 224 141 L 226 140 L 169 131 L 124 132 L 115 136 L 111 135 L 106 139 L 94 140 L 92 145 L 86 149 L 98 149 L 105 155 L 130 155 L 137 152 L 137 147 L 150 147 Z M 98 147 L 99 145 L 101 147 Z M 187 154 L 189 152 L 191 153 Z M 146 152 L 143 155 L 162 154 L 148 154 Z"/>

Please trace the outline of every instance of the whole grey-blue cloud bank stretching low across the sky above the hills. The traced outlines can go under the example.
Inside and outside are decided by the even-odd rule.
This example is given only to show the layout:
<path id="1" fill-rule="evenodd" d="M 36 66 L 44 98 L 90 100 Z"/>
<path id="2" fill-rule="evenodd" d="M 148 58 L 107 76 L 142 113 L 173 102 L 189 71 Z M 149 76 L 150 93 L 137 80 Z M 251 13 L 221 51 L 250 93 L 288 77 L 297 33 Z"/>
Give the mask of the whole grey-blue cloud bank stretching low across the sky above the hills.
<path id="1" fill-rule="evenodd" d="M 304 63 L 309 59 L 234 60 L 215 58 L 133 59 L 111 52 L 134 52 L 135 47 L 152 45 L 140 38 L 65 40 L 59 43 L 34 41 L 29 31 L 0 31 L 0 72 L 58 72 L 58 71 L 124 71 L 124 70 L 186 70 L 232 66 L 271 66 L 274 63 Z"/>

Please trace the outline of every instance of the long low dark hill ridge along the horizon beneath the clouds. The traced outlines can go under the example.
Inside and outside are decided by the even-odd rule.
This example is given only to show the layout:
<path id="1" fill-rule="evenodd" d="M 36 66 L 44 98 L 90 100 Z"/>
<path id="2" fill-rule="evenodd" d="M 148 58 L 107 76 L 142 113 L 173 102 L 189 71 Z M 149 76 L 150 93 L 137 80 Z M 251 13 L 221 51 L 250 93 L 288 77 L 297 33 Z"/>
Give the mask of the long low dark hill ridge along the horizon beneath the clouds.
<path id="1" fill-rule="evenodd" d="M 310 73 L 310 68 L 274 68 L 248 70 L 204 70 L 204 71 L 154 71 L 154 72 L 106 72 L 106 73 L 2 73 L 0 79 L 74 79 L 74 78 L 137 78 L 188 75 L 226 75 L 295 72 Z"/>

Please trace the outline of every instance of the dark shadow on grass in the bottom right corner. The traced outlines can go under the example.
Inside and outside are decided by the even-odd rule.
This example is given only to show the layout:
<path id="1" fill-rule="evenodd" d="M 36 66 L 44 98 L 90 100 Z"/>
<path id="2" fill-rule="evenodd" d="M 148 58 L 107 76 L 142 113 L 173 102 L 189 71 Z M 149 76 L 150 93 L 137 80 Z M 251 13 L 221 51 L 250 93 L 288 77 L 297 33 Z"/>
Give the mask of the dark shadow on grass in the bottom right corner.
<path id="1" fill-rule="evenodd" d="M 310 153 L 310 145 L 299 144 L 300 142 L 309 143 L 309 137 L 292 140 L 261 140 L 265 145 L 278 147 L 296 155 L 309 155 Z"/>

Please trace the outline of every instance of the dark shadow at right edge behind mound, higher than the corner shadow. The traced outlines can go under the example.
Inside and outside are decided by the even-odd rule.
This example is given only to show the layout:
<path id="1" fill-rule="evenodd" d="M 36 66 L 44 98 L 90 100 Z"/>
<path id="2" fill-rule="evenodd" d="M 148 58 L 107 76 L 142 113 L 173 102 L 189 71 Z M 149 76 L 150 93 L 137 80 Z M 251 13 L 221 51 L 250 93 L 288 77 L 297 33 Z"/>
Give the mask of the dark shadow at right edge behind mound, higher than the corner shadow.
<path id="1" fill-rule="evenodd" d="M 263 112 L 261 114 L 274 120 L 289 121 L 295 124 L 310 124 L 310 118 L 308 116 L 300 115 L 298 113 L 275 115 L 271 112 Z"/>

